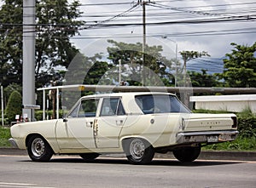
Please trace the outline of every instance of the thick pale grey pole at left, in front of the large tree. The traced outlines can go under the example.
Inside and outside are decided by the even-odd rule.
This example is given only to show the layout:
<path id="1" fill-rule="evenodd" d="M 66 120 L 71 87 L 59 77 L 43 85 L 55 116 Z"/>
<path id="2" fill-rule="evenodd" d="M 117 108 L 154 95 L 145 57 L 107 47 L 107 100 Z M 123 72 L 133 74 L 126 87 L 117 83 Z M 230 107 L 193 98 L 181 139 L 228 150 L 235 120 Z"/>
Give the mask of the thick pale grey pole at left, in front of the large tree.
<path id="1" fill-rule="evenodd" d="M 35 0 L 23 0 L 23 71 L 22 103 L 35 105 Z M 23 109 L 30 121 L 34 111 Z"/>

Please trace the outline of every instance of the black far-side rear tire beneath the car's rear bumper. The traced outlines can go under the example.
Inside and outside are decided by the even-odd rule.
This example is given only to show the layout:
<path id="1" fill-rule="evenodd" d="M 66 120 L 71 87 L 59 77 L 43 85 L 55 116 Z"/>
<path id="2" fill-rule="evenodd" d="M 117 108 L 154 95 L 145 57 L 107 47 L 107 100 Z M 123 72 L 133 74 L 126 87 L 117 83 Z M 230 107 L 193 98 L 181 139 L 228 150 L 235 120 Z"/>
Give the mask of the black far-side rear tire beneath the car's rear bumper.
<path id="1" fill-rule="evenodd" d="M 199 157 L 201 146 L 197 147 L 181 147 L 173 151 L 174 157 L 180 162 L 193 162 Z"/>

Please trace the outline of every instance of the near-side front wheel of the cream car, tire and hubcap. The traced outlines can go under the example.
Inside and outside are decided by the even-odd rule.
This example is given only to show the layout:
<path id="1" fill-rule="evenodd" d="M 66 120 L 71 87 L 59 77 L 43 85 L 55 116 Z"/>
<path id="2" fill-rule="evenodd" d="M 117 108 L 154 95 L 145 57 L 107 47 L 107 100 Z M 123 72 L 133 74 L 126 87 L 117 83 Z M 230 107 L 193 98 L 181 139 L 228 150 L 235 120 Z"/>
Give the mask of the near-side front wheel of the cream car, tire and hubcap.
<path id="1" fill-rule="evenodd" d="M 54 152 L 43 137 L 33 135 L 27 142 L 27 153 L 34 162 L 49 162 Z"/>

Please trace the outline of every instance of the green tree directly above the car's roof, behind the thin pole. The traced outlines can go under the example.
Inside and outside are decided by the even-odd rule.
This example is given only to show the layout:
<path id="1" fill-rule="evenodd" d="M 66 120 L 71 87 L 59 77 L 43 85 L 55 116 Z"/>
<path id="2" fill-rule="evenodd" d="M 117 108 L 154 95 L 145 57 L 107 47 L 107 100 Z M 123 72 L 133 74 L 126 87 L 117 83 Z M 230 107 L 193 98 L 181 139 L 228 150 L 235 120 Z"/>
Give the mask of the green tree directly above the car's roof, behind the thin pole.
<path id="1" fill-rule="evenodd" d="M 166 71 L 171 70 L 172 60 L 162 56 L 161 46 L 145 46 L 143 61 L 142 43 L 118 43 L 108 40 L 113 47 L 108 47 L 108 59 L 113 65 L 122 65 L 122 77 L 131 85 L 163 85 L 166 80 L 172 80 L 173 76 Z M 113 72 L 114 77 L 118 71 Z"/>

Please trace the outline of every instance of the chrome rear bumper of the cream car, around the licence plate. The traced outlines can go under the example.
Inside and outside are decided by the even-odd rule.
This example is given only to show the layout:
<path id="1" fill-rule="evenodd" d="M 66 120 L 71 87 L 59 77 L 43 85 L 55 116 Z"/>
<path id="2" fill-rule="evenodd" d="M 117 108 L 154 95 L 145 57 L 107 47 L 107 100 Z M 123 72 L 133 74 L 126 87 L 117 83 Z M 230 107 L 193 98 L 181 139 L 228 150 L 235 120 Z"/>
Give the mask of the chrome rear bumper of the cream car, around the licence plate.
<path id="1" fill-rule="evenodd" d="M 224 131 L 199 131 L 177 133 L 177 144 L 189 143 L 218 143 L 236 140 L 239 132 L 237 130 Z"/>

